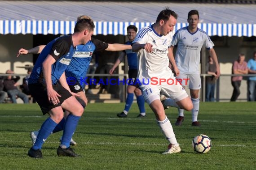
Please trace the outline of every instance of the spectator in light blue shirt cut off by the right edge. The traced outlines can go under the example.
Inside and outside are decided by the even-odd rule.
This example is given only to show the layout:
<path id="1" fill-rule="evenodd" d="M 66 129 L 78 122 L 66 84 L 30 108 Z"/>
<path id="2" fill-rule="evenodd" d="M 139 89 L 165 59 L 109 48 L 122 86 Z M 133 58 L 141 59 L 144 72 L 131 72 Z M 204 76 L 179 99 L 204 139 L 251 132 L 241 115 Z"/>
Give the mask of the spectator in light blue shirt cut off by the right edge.
<path id="1" fill-rule="evenodd" d="M 253 58 L 250 59 L 247 63 L 248 73 L 256 74 L 256 51 L 253 53 Z M 250 76 L 247 82 L 249 101 L 256 101 L 255 92 L 256 92 L 256 76 Z"/>

